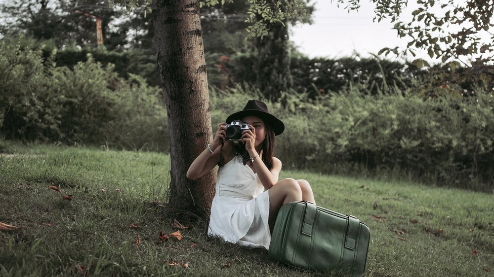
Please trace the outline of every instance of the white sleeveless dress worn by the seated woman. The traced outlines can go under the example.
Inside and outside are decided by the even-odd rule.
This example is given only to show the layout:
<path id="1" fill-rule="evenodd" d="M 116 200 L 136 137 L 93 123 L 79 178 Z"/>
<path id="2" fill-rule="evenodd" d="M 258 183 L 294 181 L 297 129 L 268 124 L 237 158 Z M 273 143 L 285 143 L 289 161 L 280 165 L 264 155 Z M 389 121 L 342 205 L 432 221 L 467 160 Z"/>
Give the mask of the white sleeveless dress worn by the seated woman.
<path id="1" fill-rule="evenodd" d="M 269 248 L 269 196 L 240 156 L 218 169 L 207 234 L 227 242 Z"/>

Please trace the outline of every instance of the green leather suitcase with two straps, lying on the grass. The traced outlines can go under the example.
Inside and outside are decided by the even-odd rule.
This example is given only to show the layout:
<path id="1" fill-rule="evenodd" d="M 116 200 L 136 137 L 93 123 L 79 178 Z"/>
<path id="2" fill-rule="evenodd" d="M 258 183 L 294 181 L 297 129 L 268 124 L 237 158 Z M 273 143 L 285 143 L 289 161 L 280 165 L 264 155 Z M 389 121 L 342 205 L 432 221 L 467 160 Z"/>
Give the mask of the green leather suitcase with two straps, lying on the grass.
<path id="1" fill-rule="evenodd" d="M 280 208 L 268 255 L 297 268 L 361 276 L 370 237 L 369 227 L 352 215 L 292 202 Z"/>

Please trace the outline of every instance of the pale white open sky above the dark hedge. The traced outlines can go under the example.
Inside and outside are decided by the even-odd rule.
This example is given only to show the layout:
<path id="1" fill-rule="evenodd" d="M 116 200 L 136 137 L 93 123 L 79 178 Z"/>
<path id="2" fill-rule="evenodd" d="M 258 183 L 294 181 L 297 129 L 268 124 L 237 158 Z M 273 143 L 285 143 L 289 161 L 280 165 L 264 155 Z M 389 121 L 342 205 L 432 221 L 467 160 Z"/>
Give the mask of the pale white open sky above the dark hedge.
<path id="1" fill-rule="evenodd" d="M 312 0 L 315 2 L 312 25 L 297 24 L 291 27 L 290 40 L 298 46 L 298 50 L 307 56 L 339 58 L 349 57 L 358 53 L 361 57 L 369 57 L 369 53 L 377 54 L 384 47 L 405 48 L 409 38 L 399 38 L 396 30 L 392 30 L 393 23 L 383 19 L 380 23 L 372 22 L 374 18 L 373 3 L 369 0 L 361 0 L 358 12 L 338 8 L 336 0 Z M 409 0 L 408 8 L 402 13 L 400 20 L 410 22 L 412 11 L 418 7 L 416 0 Z M 434 8 L 440 8 L 435 5 Z M 384 57 L 383 55 L 381 57 Z M 396 56 L 390 54 L 386 57 L 396 60 Z M 431 60 L 426 52 L 417 52 L 417 57 L 409 57 L 412 61 L 422 58 Z"/>

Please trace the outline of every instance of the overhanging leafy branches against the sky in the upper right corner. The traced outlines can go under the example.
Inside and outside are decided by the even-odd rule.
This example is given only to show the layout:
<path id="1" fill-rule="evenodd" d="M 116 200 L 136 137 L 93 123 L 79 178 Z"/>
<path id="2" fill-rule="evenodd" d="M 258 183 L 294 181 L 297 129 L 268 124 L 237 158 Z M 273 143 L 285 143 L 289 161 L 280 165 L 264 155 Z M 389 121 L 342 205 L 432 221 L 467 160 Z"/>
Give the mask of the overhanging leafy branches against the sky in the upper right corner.
<path id="1" fill-rule="evenodd" d="M 357 10 L 360 0 L 337 0 L 349 10 Z M 393 29 L 400 37 L 409 39 L 406 49 L 384 48 L 380 53 L 386 55 L 415 56 L 417 49 L 424 50 L 431 58 L 448 62 L 452 69 L 463 63 L 469 70 L 462 78 L 472 82 L 482 80 L 492 83 L 494 80 L 494 0 L 417 0 L 420 5 L 412 12 L 412 20 L 403 22 L 400 15 L 407 7 L 407 0 L 371 0 L 376 4 L 375 18 L 378 22 L 389 19 L 395 23 Z M 482 37 L 490 39 L 482 39 Z M 472 56 L 475 55 L 476 57 Z M 466 59 L 471 59 L 467 62 Z M 428 66 L 423 60 L 415 64 Z"/>

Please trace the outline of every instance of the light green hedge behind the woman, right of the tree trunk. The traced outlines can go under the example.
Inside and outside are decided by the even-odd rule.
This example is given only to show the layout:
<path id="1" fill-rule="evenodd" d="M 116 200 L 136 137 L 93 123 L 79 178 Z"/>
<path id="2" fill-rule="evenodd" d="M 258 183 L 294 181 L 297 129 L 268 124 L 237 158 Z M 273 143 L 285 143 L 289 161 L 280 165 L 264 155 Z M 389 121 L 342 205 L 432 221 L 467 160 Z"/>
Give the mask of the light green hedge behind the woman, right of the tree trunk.
<path id="1" fill-rule="evenodd" d="M 287 96 L 287 107 L 270 103 L 286 125 L 276 146 L 284 166 L 492 192 L 493 92 L 424 100 L 407 91 L 371 96 L 366 87 L 313 102 Z M 229 92 L 213 91 L 213 126 L 259 95 L 240 87 Z"/>

